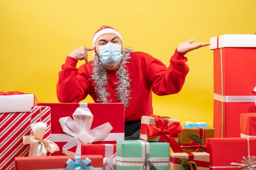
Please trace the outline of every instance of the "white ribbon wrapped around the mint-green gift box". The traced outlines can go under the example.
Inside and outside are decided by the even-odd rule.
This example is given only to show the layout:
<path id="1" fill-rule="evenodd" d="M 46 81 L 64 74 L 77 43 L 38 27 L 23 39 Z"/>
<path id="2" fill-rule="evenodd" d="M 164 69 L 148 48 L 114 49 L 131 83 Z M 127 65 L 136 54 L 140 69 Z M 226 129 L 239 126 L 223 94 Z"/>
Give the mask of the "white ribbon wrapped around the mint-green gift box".
<path id="1" fill-rule="evenodd" d="M 144 140 L 138 140 L 141 142 L 141 155 L 142 157 L 116 157 L 118 166 L 141 166 L 143 169 L 145 162 L 145 155 L 150 153 L 149 142 Z M 145 147 L 146 145 L 146 147 Z M 169 157 L 149 157 L 148 161 L 153 162 L 154 166 L 169 166 Z M 147 166 L 146 170 L 150 170 L 150 166 Z"/>

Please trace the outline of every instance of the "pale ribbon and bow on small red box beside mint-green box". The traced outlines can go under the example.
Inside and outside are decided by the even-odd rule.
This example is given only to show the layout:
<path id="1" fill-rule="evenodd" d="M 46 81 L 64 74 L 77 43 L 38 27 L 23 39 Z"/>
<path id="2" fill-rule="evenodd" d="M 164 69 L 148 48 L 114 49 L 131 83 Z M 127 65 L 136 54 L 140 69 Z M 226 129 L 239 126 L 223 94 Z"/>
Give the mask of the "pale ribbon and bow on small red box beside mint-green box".
<path id="1" fill-rule="evenodd" d="M 112 144 L 103 144 L 105 145 L 105 157 L 103 158 L 104 170 L 116 170 L 116 153 L 114 153 L 114 145 Z"/>

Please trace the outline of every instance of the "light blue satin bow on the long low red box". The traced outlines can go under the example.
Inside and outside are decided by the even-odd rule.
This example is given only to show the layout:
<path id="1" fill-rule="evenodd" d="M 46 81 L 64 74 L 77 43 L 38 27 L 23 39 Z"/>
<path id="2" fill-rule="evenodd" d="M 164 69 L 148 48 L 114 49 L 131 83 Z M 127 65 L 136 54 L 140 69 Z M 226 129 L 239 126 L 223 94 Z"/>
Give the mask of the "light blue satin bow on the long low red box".
<path id="1" fill-rule="evenodd" d="M 81 156 L 74 155 L 74 161 L 72 159 L 68 159 L 66 164 L 67 170 L 93 170 L 93 166 L 88 166 L 92 161 L 89 158 L 85 158 L 81 160 Z"/>

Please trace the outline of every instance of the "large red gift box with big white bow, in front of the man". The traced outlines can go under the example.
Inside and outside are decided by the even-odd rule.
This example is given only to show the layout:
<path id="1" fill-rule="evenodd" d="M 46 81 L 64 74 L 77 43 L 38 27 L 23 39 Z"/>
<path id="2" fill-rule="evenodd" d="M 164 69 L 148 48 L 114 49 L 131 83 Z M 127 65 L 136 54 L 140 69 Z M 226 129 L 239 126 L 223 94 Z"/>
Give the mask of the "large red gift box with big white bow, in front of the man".
<path id="1" fill-rule="evenodd" d="M 81 154 L 81 144 L 115 144 L 124 140 L 123 103 L 39 103 L 51 107 L 51 141 L 60 151 Z"/>

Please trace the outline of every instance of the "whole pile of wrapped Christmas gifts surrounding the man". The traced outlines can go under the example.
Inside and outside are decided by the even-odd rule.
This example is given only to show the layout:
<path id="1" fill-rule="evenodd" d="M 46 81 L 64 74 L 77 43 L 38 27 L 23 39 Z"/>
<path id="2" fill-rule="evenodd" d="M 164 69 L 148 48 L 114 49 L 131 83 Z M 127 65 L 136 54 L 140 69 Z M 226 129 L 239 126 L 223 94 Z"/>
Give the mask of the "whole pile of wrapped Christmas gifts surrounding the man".
<path id="1" fill-rule="evenodd" d="M 256 35 L 213 37 L 210 48 L 213 128 L 142 116 L 140 139 L 126 141 L 123 103 L 38 103 L 0 92 L 0 169 L 256 169 Z"/>

